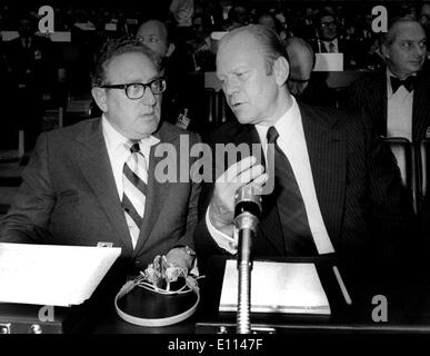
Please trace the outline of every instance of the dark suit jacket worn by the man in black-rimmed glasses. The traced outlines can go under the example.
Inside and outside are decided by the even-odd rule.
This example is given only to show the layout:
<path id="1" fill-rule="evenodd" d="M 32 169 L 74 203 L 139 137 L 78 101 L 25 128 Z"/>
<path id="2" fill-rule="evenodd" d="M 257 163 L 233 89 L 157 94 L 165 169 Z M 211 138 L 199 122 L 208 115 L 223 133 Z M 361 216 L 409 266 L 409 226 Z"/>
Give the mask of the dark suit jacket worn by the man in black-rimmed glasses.
<path id="1" fill-rule="evenodd" d="M 151 147 L 144 217 L 134 250 L 100 119 L 40 136 L 0 226 L 0 240 L 88 246 L 110 241 L 122 248 L 122 258 L 142 268 L 174 245 L 193 247 L 200 186 L 154 179 L 154 167 L 163 160 L 154 157 L 154 149 L 162 142 L 176 148 L 178 156 L 169 158 L 177 159 L 179 176 L 180 135 L 189 137 L 190 145 L 199 141 L 197 135 L 169 123 L 154 134 L 160 144 Z"/>

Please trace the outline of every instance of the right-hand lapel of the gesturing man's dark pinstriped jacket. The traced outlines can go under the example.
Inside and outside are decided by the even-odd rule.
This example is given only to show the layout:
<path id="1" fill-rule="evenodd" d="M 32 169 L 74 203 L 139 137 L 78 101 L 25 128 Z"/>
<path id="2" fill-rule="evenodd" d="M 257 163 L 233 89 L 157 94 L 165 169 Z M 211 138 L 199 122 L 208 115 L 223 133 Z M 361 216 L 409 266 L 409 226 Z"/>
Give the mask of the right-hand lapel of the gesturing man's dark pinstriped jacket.
<path id="1" fill-rule="evenodd" d="M 331 128 L 334 121 L 330 116 L 320 117 L 303 105 L 300 111 L 318 204 L 337 249 L 347 186 L 347 144 L 342 135 Z"/>

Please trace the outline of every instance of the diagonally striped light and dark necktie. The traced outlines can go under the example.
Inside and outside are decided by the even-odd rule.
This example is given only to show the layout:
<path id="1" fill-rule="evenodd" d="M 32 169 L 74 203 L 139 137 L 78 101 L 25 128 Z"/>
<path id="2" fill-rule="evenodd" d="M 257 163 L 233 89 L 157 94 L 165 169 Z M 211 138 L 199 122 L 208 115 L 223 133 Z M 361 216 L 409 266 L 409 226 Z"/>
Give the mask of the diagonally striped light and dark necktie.
<path id="1" fill-rule="evenodd" d="M 122 207 L 129 226 L 133 248 L 139 238 L 143 221 L 144 201 L 148 185 L 147 160 L 140 151 L 139 142 L 130 141 L 130 156 L 122 169 Z"/>

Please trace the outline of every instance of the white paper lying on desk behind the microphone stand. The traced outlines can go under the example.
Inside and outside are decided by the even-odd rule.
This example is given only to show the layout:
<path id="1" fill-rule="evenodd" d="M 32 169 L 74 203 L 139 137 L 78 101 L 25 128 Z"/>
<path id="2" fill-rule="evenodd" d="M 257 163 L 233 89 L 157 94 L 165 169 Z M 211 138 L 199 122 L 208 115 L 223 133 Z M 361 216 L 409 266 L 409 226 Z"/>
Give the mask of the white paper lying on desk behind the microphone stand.
<path id="1" fill-rule="evenodd" d="M 220 312 L 236 312 L 238 268 L 227 260 Z M 251 274 L 251 312 L 330 315 L 330 305 L 314 264 L 254 261 Z"/>

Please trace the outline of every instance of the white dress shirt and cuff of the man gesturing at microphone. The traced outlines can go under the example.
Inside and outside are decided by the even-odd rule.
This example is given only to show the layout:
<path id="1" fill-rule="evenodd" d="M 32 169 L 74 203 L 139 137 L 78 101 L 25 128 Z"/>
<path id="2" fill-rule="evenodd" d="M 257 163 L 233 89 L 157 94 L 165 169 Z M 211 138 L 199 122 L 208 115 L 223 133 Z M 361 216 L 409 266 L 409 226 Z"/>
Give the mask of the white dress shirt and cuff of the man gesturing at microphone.
<path id="1" fill-rule="evenodd" d="M 278 146 L 288 157 L 294 172 L 300 192 L 303 198 L 304 208 L 308 215 L 309 227 L 313 241 L 320 255 L 334 251 L 329 234 L 327 233 L 317 192 L 313 184 L 312 169 L 309 161 L 308 147 L 306 144 L 301 113 L 296 99 L 292 98 L 292 107 L 274 125 L 278 130 Z M 269 126 L 256 125 L 260 141 L 263 145 L 264 156 L 267 156 L 267 131 Z M 233 238 L 217 230 L 209 219 L 209 209 L 206 216 L 207 226 L 214 241 L 221 248 L 231 254 L 237 253 L 237 233 Z"/>

